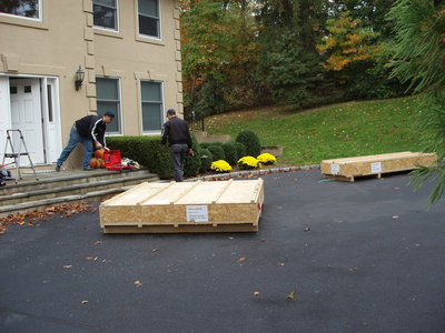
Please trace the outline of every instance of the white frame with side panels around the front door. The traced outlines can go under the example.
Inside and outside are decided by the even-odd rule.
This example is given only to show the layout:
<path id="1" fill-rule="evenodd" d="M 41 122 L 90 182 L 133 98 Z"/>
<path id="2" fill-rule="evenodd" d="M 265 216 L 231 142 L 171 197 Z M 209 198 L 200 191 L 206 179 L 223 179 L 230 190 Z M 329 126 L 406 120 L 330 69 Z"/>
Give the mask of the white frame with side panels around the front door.
<path id="1" fill-rule="evenodd" d="M 40 85 L 40 112 L 42 117 L 42 139 L 43 139 L 43 155 L 44 155 L 44 162 L 42 163 L 43 165 L 52 164 L 56 162 L 58 154 L 60 153 L 62 149 L 62 132 L 61 132 L 61 114 L 60 114 L 60 88 L 59 88 L 59 78 L 58 77 L 51 77 L 51 75 L 33 75 L 33 74 L 6 74 L 6 73 L 0 73 L 0 78 L 7 78 L 7 93 L 8 97 L 6 98 L 9 103 L 8 108 L 4 111 L 4 113 L 0 110 L 0 117 L 4 117 L 7 119 L 7 122 L 9 122 L 9 125 L 7 127 L 11 128 L 11 101 L 10 101 L 10 94 L 9 94 L 9 79 L 39 79 L 39 85 Z M 52 105 L 49 105 L 48 101 L 48 85 L 51 88 L 51 103 Z M 52 111 L 52 122 L 50 122 L 49 119 L 49 109 L 51 108 Z M 52 127 L 52 131 L 50 131 L 50 127 Z M 6 135 L 6 133 L 4 133 Z M 0 139 L 0 142 L 2 142 L 2 147 L 0 147 L 0 160 L 3 159 L 3 149 L 6 144 L 6 138 L 4 142 L 2 140 L 3 138 Z M 23 159 L 24 162 L 26 159 Z"/>

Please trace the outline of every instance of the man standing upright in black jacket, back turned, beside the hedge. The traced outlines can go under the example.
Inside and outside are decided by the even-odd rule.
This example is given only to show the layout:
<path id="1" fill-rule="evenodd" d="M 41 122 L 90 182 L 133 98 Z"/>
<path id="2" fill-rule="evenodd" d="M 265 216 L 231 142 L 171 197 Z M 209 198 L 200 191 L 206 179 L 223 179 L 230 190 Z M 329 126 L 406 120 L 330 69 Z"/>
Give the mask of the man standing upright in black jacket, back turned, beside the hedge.
<path id="1" fill-rule="evenodd" d="M 171 163 L 174 167 L 175 181 L 181 182 L 184 160 L 187 151 L 191 153 L 191 135 L 188 124 L 176 117 L 176 111 L 170 109 L 167 111 L 168 121 L 164 124 L 161 143 L 170 147 Z"/>

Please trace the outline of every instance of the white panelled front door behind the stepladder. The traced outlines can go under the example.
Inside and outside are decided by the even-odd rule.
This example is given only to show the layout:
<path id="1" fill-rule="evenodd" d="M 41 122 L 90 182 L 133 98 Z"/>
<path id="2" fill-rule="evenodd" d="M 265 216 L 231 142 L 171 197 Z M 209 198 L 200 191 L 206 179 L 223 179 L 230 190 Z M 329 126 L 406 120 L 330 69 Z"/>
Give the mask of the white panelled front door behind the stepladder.
<path id="1" fill-rule="evenodd" d="M 11 129 L 20 130 L 33 164 L 42 164 L 44 144 L 39 79 L 11 79 Z M 12 143 L 16 152 L 26 152 L 18 132 L 13 132 Z M 20 165 L 29 165 L 28 157 L 21 157 Z"/>

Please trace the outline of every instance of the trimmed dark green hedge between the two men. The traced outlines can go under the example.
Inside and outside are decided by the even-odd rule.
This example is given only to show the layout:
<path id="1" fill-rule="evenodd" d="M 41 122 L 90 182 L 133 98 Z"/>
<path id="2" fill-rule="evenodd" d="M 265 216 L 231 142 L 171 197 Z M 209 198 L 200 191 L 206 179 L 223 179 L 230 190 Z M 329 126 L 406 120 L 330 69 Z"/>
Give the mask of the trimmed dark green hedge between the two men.
<path id="1" fill-rule="evenodd" d="M 137 161 L 160 179 L 172 176 L 170 151 L 159 137 L 108 137 L 110 149 L 120 150 L 122 158 Z"/>

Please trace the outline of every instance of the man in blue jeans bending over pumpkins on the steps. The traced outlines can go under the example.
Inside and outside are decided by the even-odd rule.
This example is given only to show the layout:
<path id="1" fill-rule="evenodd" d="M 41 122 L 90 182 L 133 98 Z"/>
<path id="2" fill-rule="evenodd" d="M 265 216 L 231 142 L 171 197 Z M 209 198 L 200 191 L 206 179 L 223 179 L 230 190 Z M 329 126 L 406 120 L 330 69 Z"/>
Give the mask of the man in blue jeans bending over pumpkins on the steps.
<path id="1" fill-rule="evenodd" d="M 112 112 L 106 112 L 103 115 L 87 115 L 76 121 L 71 128 L 68 144 L 57 160 L 56 171 L 60 171 L 60 167 L 62 167 L 71 151 L 79 143 L 83 145 L 83 170 L 91 170 L 90 160 L 92 155 L 92 144 L 95 144 L 96 149 L 109 150 L 106 147 L 105 132 L 107 130 L 107 124 L 109 124 L 113 118 L 115 114 Z"/>

